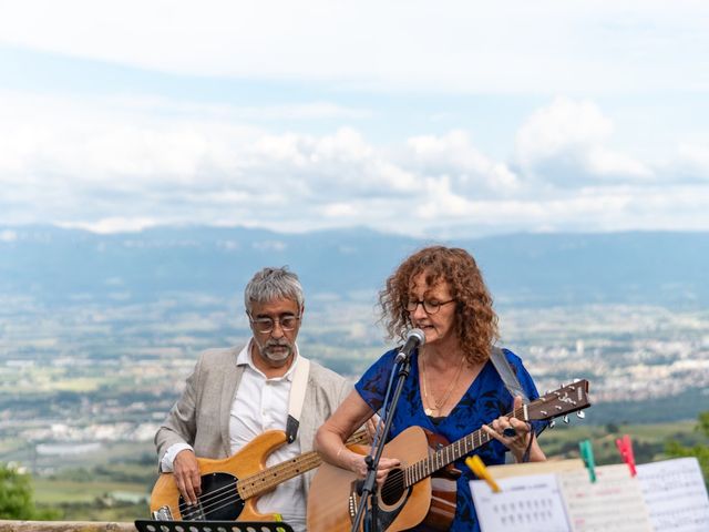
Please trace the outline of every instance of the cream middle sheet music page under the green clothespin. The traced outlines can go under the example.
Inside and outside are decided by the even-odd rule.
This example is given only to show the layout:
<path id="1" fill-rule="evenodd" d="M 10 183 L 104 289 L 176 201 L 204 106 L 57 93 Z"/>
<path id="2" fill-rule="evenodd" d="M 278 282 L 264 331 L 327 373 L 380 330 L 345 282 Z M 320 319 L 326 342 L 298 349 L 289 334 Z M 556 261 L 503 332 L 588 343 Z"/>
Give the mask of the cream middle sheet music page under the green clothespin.
<path id="1" fill-rule="evenodd" d="M 574 532 L 653 531 L 640 481 L 625 463 L 597 467 L 594 483 L 585 469 L 557 478 Z"/>

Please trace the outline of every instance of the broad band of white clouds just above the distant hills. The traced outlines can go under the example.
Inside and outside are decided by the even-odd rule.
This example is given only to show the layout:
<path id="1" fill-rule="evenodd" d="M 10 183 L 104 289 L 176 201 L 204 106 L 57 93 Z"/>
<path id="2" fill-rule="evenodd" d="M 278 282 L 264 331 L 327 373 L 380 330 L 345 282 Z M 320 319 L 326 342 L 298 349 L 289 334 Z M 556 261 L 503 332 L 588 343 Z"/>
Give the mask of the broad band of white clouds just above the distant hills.
<path id="1" fill-rule="evenodd" d="M 532 113 L 507 163 L 463 130 L 383 144 L 352 126 L 277 132 L 229 106 L 193 115 L 167 100 L 155 113 L 141 99 L 1 96 L 6 225 L 364 225 L 435 237 L 709 228 L 706 145 L 682 144 L 662 167 L 640 164 L 612 146 L 613 123 L 590 101 Z M 681 168 L 693 181 L 660 180 Z"/>

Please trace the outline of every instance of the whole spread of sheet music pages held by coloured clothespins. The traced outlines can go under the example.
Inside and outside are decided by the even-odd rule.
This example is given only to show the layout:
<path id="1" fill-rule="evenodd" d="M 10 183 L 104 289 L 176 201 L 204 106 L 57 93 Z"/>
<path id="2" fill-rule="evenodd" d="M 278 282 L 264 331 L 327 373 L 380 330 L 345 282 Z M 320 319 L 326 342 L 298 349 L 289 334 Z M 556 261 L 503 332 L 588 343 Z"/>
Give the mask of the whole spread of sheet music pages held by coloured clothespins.
<path id="1" fill-rule="evenodd" d="M 596 467 L 575 461 L 489 468 L 501 488 L 470 482 L 482 532 L 707 532 L 709 497 L 696 458 Z M 578 462 L 578 461 L 576 461 Z M 514 475 L 497 475 L 511 468 Z"/>

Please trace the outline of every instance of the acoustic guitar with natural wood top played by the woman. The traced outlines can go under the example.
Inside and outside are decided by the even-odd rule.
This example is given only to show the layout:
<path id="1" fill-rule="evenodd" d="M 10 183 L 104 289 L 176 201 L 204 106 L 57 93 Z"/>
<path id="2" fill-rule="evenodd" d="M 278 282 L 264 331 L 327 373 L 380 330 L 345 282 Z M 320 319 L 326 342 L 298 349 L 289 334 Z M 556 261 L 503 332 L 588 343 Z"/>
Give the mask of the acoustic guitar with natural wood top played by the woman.
<path id="1" fill-rule="evenodd" d="M 590 406 L 587 393 L 588 381 L 579 380 L 523 405 L 507 416 L 524 421 L 566 416 Z M 377 490 L 378 525 L 373 530 L 397 532 L 421 523 L 427 530 L 449 530 L 455 515 L 456 498 L 456 474 L 452 463 L 492 439 L 479 429 L 449 443 L 415 426 L 392 439 L 384 446 L 382 456 L 399 459 L 401 466 L 389 471 L 383 485 Z M 310 484 L 308 532 L 351 530 L 360 500 L 358 480 L 351 471 L 329 463 L 320 466 Z"/>

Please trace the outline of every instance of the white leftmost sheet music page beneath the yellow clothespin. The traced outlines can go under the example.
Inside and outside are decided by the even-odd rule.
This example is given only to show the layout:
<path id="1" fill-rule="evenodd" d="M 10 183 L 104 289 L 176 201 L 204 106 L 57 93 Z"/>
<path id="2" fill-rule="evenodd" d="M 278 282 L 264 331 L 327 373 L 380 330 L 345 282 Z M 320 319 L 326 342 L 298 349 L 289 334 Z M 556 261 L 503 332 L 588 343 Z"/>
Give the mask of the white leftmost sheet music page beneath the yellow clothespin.
<path id="1" fill-rule="evenodd" d="M 502 490 L 500 493 L 494 493 L 483 480 L 470 482 L 482 532 L 571 530 L 555 474 L 511 477 L 495 481 Z"/>

